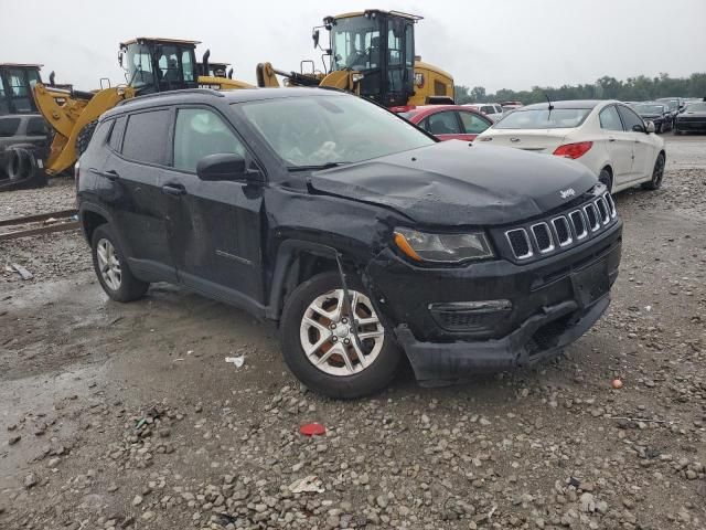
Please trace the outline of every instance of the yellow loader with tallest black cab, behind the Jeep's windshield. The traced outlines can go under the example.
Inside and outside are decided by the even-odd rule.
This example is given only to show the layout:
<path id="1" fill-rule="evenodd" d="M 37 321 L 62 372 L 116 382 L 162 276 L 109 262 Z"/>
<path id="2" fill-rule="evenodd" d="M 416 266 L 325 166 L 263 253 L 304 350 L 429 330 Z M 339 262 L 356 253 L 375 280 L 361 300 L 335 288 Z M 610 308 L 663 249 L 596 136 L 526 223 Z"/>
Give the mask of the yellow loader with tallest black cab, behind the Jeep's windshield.
<path id="1" fill-rule="evenodd" d="M 323 51 L 324 71 L 286 72 L 257 65 L 258 86 L 330 86 L 354 92 L 386 107 L 453 103 L 453 77 L 415 54 L 415 24 L 421 17 L 400 11 L 366 11 L 327 17 L 313 29 L 314 49 Z M 329 47 L 319 44 L 329 31 Z"/>

